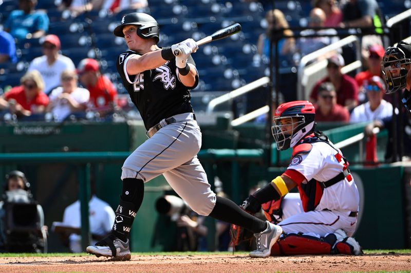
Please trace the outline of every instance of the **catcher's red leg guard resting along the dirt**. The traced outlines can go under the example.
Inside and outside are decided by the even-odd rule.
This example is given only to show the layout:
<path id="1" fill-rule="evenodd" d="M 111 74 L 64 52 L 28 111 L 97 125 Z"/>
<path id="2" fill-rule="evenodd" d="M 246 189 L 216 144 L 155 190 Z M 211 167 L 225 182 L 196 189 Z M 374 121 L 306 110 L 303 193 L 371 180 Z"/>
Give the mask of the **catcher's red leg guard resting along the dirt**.
<path id="1" fill-rule="evenodd" d="M 302 234 L 286 234 L 271 247 L 271 256 L 288 255 L 327 255 L 337 237 L 329 234 L 325 238 L 317 238 Z"/>

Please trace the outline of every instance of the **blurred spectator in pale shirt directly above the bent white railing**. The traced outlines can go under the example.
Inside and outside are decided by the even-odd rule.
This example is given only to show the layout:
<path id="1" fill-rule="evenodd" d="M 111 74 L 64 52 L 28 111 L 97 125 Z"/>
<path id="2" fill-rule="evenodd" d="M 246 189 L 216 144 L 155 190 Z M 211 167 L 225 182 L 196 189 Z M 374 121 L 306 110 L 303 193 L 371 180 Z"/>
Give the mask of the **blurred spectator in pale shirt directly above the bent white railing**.
<path id="1" fill-rule="evenodd" d="M 321 28 L 324 27 L 324 23 L 326 20 L 325 12 L 320 8 L 313 8 L 310 11 L 310 18 L 308 26 L 310 28 Z M 301 31 L 300 33 L 302 36 L 308 35 L 337 35 L 337 31 L 335 29 L 322 29 L 322 30 L 315 30 L 315 29 L 306 29 Z M 301 37 L 298 39 L 297 42 L 297 49 L 298 51 L 304 56 L 316 50 L 319 50 L 325 46 L 338 41 L 338 36 L 334 37 Z"/>

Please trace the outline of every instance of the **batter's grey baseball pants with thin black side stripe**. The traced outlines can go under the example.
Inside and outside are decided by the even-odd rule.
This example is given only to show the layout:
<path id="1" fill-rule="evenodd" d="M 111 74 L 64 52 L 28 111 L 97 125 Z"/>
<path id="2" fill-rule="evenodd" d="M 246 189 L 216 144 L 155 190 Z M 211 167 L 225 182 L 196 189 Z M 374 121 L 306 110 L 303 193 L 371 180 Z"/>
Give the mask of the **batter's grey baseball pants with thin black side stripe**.
<path id="1" fill-rule="evenodd" d="M 206 172 L 197 158 L 201 131 L 193 113 L 173 116 L 166 125 L 127 157 L 121 179 L 144 182 L 163 174 L 173 190 L 199 215 L 211 213 L 216 202 Z"/>

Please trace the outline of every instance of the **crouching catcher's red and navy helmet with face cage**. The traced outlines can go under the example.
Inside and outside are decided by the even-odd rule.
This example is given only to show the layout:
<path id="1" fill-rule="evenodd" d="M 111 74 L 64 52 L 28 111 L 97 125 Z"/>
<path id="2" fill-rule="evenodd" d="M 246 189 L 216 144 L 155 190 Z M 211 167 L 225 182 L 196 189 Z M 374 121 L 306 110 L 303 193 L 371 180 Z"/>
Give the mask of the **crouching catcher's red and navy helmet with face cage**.
<path id="1" fill-rule="evenodd" d="M 277 150 L 293 147 L 314 131 L 314 106 L 308 100 L 296 100 L 280 104 L 274 112 L 273 137 Z"/>

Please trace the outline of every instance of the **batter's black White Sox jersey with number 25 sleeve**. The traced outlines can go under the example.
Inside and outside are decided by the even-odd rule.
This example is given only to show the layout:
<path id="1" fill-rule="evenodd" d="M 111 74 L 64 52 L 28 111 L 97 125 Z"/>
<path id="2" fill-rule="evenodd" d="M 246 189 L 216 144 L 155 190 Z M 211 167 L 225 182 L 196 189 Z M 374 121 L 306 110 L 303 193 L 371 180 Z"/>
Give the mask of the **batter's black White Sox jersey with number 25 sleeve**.
<path id="1" fill-rule="evenodd" d="M 148 130 L 160 120 L 182 113 L 192 113 L 191 95 L 177 76 L 175 59 L 167 61 L 164 65 L 141 72 L 137 75 L 128 75 L 126 64 L 130 57 L 140 55 L 128 50 L 117 58 L 117 71 L 121 76 L 123 85 L 130 98 L 137 107 Z M 191 56 L 188 61 L 195 65 Z M 198 84 L 198 75 L 193 89 Z"/>

